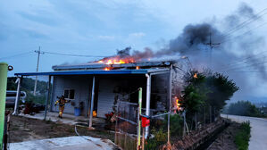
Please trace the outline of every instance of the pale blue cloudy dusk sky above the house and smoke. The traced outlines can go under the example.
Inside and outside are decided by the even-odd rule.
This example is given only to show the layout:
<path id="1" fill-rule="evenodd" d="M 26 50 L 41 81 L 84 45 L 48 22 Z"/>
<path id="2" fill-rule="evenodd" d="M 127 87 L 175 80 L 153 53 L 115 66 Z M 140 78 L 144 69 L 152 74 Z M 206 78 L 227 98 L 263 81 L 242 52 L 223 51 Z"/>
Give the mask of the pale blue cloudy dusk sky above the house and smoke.
<path id="1" fill-rule="evenodd" d="M 188 24 L 221 20 L 246 3 L 260 12 L 266 0 L 8 0 L 0 2 L 0 62 L 9 72 L 36 71 L 34 50 L 108 56 L 131 46 L 160 49 Z M 266 18 L 266 16 L 265 16 Z M 260 30 L 266 35 L 267 28 Z M 266 48 L 265 48 L 266 49 Z M 87 63 L 101 57 L 41 54 L 39 71 L 63 63 Z M 260 81 L 258 81 L 260 82 Z M 261 87 L 261 96 L 266 92 Z"/>

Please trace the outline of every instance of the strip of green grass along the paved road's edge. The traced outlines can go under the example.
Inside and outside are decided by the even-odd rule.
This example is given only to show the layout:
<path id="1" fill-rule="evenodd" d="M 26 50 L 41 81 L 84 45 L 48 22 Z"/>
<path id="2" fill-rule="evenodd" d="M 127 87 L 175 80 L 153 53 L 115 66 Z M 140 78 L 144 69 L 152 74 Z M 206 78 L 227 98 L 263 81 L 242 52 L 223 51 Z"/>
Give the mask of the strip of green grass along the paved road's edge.
<path id="1" fill-rule="evenodd" d="M 238 150 L 247 150 L 248 142 L 250 138 L 250 122 L 243 122 L 238 130 L 238 134 L 235 137 L 235 144 L 238 146 Z"/>

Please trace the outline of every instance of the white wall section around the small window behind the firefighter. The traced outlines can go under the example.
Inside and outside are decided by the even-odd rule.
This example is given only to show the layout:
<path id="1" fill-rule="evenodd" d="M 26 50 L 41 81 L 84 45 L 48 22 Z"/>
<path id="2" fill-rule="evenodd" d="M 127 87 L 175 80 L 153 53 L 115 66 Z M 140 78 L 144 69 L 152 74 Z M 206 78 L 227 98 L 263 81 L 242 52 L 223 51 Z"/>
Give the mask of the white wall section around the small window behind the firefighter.
<path id="1" fill-rule="evenodd" d="M 63 96 L 64 89 L 74 89 L 75 102 L 83 102 L 84 108 L 81 112 L 82 115 L 86 114 L 88 109 L 88 102 L 90 101 L 92 87 L 92 77 L 89 76 L 54 76 L 54 94 L 52 97 L 52 111 L 58 112 L 58 105 L 54 106 L 57 100 L 56 96 Z M 65 104 L 64 112 L 74 113 L 74 107 L 71 103 Z"/>

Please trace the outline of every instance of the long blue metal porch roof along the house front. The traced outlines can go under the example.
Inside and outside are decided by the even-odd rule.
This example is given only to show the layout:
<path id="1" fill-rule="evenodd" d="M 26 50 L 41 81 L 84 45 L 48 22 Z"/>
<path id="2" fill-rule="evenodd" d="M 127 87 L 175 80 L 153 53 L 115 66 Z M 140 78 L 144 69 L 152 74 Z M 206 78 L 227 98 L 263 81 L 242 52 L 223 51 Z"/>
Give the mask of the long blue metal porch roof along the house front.
<path id="1" fill-rule="evenodd" d="M 50 71 L 50 72 L 22 72 L 15 73 L 16 76 L 59 76 L 59 75 L 97 75 L 97 74 L 146 74 L 154 72 L 168 72 L 168 69 L 141 69 L 141 70 L 95 70 L 95 71 Z"/>

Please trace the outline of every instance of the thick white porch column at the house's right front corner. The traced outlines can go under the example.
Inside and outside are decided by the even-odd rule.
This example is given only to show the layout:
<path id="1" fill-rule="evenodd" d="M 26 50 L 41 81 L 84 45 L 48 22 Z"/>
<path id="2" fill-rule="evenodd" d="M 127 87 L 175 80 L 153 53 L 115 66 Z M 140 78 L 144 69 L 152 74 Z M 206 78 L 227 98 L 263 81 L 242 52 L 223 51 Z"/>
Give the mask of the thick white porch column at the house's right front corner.
<path id="1" fill-rule="evenodd" d="M 151 93 L 151 75 L 146 74 L 146 115 L 150 115 L 150 93 Z M 149 134 L 149 127 L 146 127 L 146 135 Z"/>

